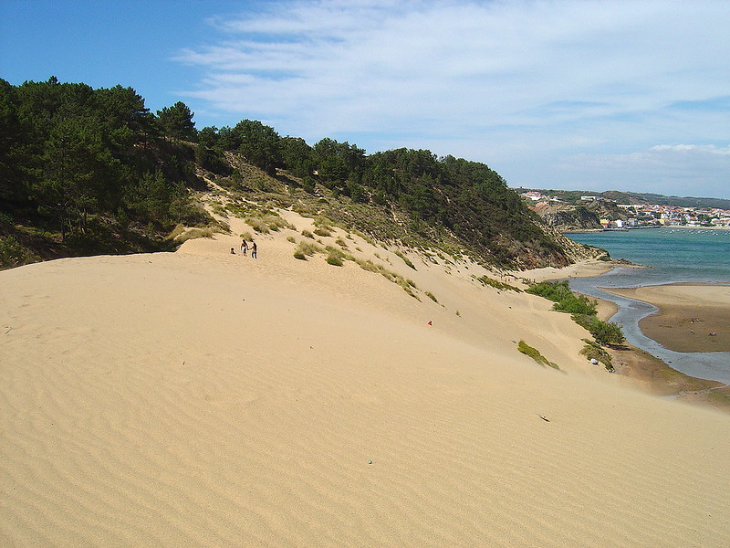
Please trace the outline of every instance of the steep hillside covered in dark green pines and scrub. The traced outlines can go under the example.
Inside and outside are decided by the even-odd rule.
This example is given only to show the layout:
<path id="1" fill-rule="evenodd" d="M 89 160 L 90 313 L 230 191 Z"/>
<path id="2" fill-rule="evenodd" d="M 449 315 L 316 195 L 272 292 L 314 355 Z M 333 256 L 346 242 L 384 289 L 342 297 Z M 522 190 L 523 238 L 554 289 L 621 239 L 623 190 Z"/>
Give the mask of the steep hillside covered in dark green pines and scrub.
<path id="1" fill-rule="evenodd" d="M 0 81 L 0 106 L 5 267 L 172 249 L 185 227 L 224 230 L 203 208 L 209 183 L 229 194 L 226 204 L 245 203 L 241 215 L 294 207 L 495 268 L 565 266 L 591 254 L 544 227 L 483 163 L 423 150 L 366 155 L 327 138 L 309 146 L 258 121 L 197 131 L 183 103 L 155 116 L 130 88 L 53 78 Z"/>

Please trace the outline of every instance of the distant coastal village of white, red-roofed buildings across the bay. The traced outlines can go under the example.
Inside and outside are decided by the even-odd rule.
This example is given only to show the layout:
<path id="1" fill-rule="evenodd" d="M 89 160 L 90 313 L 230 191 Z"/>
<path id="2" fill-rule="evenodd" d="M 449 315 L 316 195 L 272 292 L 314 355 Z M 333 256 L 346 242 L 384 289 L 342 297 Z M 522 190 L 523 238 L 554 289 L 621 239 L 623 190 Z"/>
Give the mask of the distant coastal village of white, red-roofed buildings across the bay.
<path id="1" fill-rule="evenodd" d="M 560 205 L 604 205 L 600 226 L 604 230 L 652 227 L 716 227 L 730 228 L 730 209 L 717 207 L 680 207 L 659 204 L 620 204 L 616 200 L 600 195 L 581 195 L 576 203 L 568 204 L 558 196 L 545 195 L 538 191 L 520 193 L 530 209 L 542 214 Z"/>

